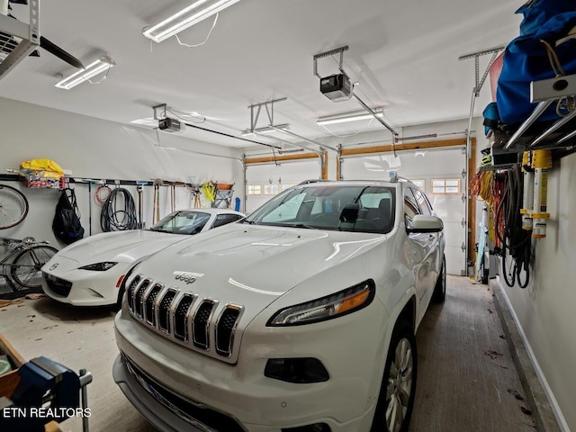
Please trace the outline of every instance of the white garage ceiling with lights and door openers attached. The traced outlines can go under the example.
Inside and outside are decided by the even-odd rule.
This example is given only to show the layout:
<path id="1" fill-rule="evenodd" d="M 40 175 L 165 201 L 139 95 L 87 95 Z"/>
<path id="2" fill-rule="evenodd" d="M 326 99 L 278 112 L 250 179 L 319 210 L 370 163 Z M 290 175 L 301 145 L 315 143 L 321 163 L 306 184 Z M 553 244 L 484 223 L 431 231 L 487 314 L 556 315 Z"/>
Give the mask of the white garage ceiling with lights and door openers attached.
<path id="1" fill-rule="evenodd" d="M 518 35 L 521 1 L 511 0 L 242 0 L 222 11 L 210 39 L 197 48 L 175 38 L 154 43 L 142 29 L 181 0 L 58 0 L 40 4 L 40 33 L 88 64 L 107 53 L 117 66 L 99 85 L 71 90 L 54 86 L 74 71 L 40 49 L 0 80 L 0 96 L 100 119 L 130 123 L 151 117 L 166 103 L 199 112 L 207 129 L 239 136 L 250 125 L 248 105 L 278 98 L 275 123 L 290 123 L 310 139 L 330 132 L 383 130 L 377 121 L 318 126 L 323 115 L 356 111 L 352 99 L 334 103 L 320 93 L 313 55 L 348 45 L 344 70 L 358 82 L 356 94 L 383 106 L 386 121 L 400 128 L 467 118 L 475 82 L 474 60 L 458 57 L 505 45 Z M 27 7 L 13 5 L 27 21 Z M 213 18 L 179 34 L 202 42 Z M 481 58 L 481 76 L 491 56 Z M 318 61 L 321 76 L 338 72 L 338 56 Z M 98 77 L 94 78 L 97 80 Z M 490 102 L 490 83 L 476 101 L 480 115 Z M 266 112 L 258 127 L 266 126 Z M 186 137 L 231 147 L 250 143 L 188 128 Z M 279 135 L 280 136 L 280 135 Z M 293 140 L 288 136 L 284 139 Z M 263 142 L 275 142 L 262 137 Z"/>

